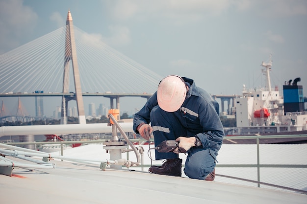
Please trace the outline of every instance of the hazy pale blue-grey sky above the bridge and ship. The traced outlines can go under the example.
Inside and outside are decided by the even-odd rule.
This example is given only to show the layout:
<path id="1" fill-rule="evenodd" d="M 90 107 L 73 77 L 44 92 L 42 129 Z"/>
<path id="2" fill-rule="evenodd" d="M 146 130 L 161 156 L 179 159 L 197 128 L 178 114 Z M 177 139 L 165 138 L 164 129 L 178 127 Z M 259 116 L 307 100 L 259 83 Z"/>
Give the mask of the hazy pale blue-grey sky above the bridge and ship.
<path id="1" fill-rule="evenodd" d="M 306 0 L 0 0 L 0 54 L 64 26 L 68 10 L 75 26 L 160 76 L 240 95 L 243 84 L 264 86 L 260 65 L 272 54 L 272 87 L 301 77 L 307 96 Z M 22 100 L 35 114 L 34 100 Z M 84 99 L 86 114 L 91 102 L 109 104 L 95 100 Z M 50 116 L 60 102 L 45 101 Z M 146 99 L 120 102 L 133 114 Z"/>

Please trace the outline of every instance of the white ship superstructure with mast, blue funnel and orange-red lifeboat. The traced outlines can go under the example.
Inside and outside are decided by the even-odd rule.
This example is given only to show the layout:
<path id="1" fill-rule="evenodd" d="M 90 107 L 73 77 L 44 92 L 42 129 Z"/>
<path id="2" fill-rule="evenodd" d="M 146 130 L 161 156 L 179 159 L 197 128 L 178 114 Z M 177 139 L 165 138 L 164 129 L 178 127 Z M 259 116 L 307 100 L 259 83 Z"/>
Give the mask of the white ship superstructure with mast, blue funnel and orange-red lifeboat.
<path id="1" fill-rule="evenodd" d="M 267 134 L 307 130 L 307 112 L 304 110 L 303 87 L 297 78 L 285 82 L 283 96 L 278 87 L 271 88 L 268 63 L 262 62 L 265 87 L 247 89 L 243 85 L 242 97 L 236 99 L 237 134 Z"/>

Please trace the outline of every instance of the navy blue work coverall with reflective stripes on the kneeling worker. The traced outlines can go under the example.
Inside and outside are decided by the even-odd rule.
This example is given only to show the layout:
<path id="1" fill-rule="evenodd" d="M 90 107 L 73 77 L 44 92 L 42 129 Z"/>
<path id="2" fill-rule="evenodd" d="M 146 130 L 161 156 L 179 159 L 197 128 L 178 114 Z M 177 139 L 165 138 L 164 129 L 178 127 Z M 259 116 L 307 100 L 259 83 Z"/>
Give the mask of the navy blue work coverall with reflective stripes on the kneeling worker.
<path id="1" fill-rule="evenodd" d="M 144 107 L 134 115 L 133 130 L 141 123 L 153 127 L 154 144 L 164 140 L 175 140 L 179 136 L 197 136 L 202 145 L 187 151 L 184 173 L 189 178 L 204 180 L 216 164 L 221 148 L 224 129 L 219 117 L 219 104 L 205 90 L 196 87 L 192 79 L 182 77 L 189 86 L 186 99 L 176 112 L 165 112 L 157 102 L 155 92 Z M 179 155 L 173 152 L 155 151 L 155 159 L 173 159 Z"/>

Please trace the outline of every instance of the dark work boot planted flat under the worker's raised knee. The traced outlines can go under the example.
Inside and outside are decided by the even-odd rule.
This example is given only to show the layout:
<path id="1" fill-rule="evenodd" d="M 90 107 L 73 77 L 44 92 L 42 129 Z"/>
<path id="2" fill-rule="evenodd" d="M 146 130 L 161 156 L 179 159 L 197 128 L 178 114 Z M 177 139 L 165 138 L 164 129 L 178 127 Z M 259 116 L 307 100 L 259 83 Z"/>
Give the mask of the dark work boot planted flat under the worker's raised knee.
<path id="1" fill-rule="evenodd" d="M 181 177 L 182 159 L 166 159 L 161 166 L 151 166 L 148 171 L 153 174 Z"/>

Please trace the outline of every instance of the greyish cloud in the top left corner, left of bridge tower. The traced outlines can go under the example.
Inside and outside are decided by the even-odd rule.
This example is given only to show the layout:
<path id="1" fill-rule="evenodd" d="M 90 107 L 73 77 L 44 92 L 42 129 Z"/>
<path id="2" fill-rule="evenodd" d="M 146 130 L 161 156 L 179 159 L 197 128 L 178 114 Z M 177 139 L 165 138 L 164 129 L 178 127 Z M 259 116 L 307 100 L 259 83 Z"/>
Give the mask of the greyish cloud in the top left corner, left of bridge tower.
<path id="1" fill-rule="evenodd" d="M 22 0 L 0 1 L 0 53 L 11 50 L 20 42 L 20 36 L 30 35 L 36 25 L 38 16 Z"/>

